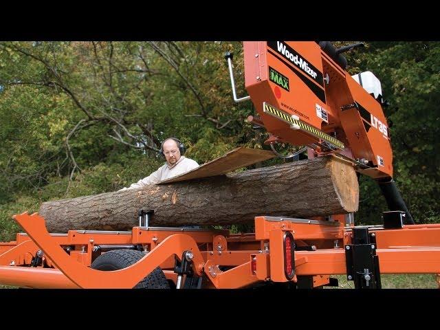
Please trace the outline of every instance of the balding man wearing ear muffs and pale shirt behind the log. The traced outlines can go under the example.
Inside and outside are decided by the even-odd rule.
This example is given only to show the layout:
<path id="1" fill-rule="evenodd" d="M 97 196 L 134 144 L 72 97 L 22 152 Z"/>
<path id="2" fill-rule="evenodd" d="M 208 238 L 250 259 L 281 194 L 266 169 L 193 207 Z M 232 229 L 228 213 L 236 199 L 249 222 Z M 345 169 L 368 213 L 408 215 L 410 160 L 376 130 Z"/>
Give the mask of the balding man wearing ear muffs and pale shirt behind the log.
<path id="1" fill-rule="evenodd" d="M 163 166 L 159 167 L 159 169 L 151 173 L 151 175 L 148 175 L 148 177 L 144 177 L 144 179 L 137 181 L 135 184 L 131 184 L 129 188 L 122 188 L 121 190 L 142 188 L 148 184 L 157 184 L 159 181 L 176 177 L 177 175 L 199 167 L 197 162 L 183 155 L 185 153 L 185 146 L 175 137 L 168 137 L 168 139 L 162 142 L 160 153 L 164 155 L 166 159 L 166 163 Z"/>

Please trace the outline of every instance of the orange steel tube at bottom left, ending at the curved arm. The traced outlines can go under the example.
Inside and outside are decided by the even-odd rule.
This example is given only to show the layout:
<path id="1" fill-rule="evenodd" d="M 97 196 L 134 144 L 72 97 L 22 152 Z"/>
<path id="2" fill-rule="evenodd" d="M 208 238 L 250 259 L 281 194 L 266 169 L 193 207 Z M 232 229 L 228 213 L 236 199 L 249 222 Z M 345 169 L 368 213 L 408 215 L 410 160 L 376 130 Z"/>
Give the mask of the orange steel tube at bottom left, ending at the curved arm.
<path id="1" fill-rule="evenodd" d="M 2 285 L 35 289 L 78 289 L 61 271 L 40 267 L 0 266 Z"/>

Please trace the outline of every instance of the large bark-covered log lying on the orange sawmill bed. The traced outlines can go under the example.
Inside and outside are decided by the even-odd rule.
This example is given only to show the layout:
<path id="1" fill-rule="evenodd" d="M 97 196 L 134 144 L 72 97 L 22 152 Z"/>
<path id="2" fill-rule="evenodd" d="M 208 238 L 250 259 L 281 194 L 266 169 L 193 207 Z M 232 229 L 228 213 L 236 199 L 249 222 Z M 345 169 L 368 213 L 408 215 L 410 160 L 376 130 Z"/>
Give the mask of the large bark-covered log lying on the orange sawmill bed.
<path id="1" fill-rule="evenodd" d="M 318 157 L 241 173 L 47 201 L 39 214 L 49 232 L 130 230 L 137 211 L 153 209 L 151 226 L 252 223 L 261 215 L 318 217 L 358 210 L 353 166 Z"/>

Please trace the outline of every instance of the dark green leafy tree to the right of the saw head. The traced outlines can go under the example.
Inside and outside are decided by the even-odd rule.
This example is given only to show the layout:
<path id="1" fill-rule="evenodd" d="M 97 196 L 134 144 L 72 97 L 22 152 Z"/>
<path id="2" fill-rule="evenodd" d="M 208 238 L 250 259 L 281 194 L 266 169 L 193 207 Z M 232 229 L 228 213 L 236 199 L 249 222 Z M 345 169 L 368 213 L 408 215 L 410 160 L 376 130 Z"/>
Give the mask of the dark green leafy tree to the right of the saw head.
<path id="1" fill-rule="evenodd" d="M 440 43 L 369 43 L 355 61 L 382 83 L 389 102 L 384 112 L 390 126 L 394 178 L 417 223 L 439 222 L 440 203 Z M 361 179 L 360 211 L 364 223 L 380 220 L 386 204 L 377 184 Z"/>

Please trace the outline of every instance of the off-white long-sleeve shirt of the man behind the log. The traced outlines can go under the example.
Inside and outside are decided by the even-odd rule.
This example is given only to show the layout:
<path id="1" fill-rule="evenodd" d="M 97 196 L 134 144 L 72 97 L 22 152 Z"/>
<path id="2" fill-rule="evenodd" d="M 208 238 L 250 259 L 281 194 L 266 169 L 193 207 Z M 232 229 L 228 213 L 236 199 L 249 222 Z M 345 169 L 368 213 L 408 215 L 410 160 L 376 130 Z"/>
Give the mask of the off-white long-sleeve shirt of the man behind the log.
<path id="1" fill-rule="evenodd" d="M 148 184 L 157 184 L 159 181 L 169 179 L 170 177 L 177 177 L 177 175 L 184 174 L 197 167 L 199 167 L 199 164 L 197 164 L 195 160 L 180 156 L 175 164 L 170 165 L 168 162 L 165 162 L 163 166 L 159 167 L 159 169 L 151 173 L 151 175 L 148 175 L 148 177 L 144 177 L 144 179 L 137 181 L 135 184 L 131 184 L 129 188 L 122 188 L 121 190 L 142 188 Z"/>

